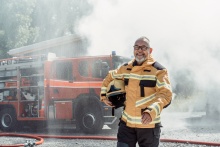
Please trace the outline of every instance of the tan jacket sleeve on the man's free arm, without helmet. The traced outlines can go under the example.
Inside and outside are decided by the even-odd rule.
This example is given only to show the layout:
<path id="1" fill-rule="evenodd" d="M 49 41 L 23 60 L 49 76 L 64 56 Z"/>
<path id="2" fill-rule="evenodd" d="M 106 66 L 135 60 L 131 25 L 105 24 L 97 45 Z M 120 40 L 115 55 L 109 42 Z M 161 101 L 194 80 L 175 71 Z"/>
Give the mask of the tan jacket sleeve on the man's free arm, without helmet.
<path id="1" fill-rule="evenodd" d="M 168 72 L 166 69 L 157 71 L 157 83 L 156 83 L 156 99 L 148 106 L 145 112 L 151 115 L 152 120 L 160 115 L 163 108 L 170 105 L 172 100 L 172 89 Z"/>

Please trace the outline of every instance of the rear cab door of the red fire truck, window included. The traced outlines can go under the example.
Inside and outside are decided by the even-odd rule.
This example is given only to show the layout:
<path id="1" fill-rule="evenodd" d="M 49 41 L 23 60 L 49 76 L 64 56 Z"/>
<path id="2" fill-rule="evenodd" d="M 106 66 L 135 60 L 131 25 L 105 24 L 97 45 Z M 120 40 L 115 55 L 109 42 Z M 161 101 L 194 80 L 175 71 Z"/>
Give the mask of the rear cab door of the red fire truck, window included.
<path id="1" fill-rule="evenodd" d="M 70 60 L 53 62 L 50 78 L 49 118 L 72 118 L 74 83 L 72 62 Z"/>

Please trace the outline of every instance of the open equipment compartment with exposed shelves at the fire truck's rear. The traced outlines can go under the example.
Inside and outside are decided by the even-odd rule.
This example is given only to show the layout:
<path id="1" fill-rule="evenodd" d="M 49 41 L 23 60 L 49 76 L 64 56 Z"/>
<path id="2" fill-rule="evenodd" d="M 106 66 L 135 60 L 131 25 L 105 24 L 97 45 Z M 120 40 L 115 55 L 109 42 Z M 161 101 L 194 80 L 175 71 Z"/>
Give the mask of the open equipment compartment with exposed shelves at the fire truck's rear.
<path id="1" fill-rule="evenodd" d="M 46 59 L 40 55 L 0 60 L 0 102 L 18 102 L 18 110 L 28 109 L 27 114 L 22 112 L 18 117 L 39 117 Z"/>

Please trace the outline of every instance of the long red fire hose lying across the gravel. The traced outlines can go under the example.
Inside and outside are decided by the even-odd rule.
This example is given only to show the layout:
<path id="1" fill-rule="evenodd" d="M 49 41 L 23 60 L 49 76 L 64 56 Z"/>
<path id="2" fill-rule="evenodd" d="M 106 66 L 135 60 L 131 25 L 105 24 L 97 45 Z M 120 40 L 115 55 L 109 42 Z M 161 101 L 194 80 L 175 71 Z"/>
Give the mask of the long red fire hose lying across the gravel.
<path id="1" fill-rule="evenodd" d="M 59 135 L 45 135 L 45 134 L 13 134 L 13 133 L 0 133 L 0 136 L 16 136 L 16 137 L 27 137 L 39 140 L 36 145 L 40 145 L 44 142 L 43 138 L 57 138 L 57 139 L 97 139 L 97 140 L 117 140 L 113 136 L 59 136 Z M 207 146 L 220 146 L 218 142 L 202 142 L 202 141 L 192 141 L 192 140 L 178 140 L 178 139 L 160 139 L 161 142 L 170 143 L 187 143 L 187 144 L 198 144 Z M 4 147 L 19 147 L 24 146 L 24 144 L 15 145 L 4 145 Z M 1 147 L 1 146 L 0 146 Z"/>

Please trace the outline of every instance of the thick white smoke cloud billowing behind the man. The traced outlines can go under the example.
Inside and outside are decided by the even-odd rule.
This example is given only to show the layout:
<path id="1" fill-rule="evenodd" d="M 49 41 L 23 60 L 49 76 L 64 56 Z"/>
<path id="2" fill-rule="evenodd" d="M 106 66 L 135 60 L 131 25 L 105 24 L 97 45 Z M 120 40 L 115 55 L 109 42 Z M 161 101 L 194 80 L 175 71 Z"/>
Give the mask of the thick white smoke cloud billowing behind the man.
<path id="1" fill-rule="evenodd" d="M 134 41 L 146 36 L 151 40 L 153 56 L 169 69 L 172 87 L 175 89 L 185 79 L 193 84 L 196 106 L 205 107 L 206 91 L 219 91 L 220 1 L 89 2 L 94 10 L 80 21 L 79 31 L 91 42 L 90 55 L 110 54 L 114 50 L 118 55 L 131 57 Z M 211 92 L 208 97 L 218 99 L 215 94 Z"/>

